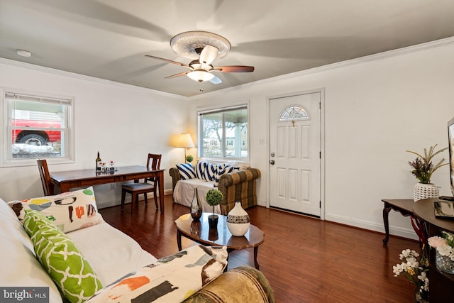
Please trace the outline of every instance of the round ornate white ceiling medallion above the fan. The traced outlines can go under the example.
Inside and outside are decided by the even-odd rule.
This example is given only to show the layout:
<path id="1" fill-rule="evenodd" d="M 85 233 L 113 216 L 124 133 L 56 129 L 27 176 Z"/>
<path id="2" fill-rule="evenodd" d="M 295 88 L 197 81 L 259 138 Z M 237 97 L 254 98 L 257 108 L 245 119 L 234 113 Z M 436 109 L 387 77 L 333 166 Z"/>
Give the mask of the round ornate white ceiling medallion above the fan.
<path id="1" fill-rule="evenodd" d="M 217 57 L 227 55 L 231 49 L 231 43 L 226 38 L 207 31 L 187 31 L 179 33 L 170 39 L 172 50 L 178 55 L 189 59 L 199 59 L 200 50 L 206 45 L 211 45 L 218 49 Z"/>

